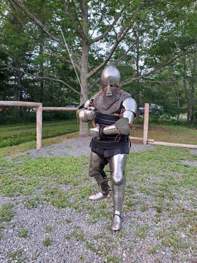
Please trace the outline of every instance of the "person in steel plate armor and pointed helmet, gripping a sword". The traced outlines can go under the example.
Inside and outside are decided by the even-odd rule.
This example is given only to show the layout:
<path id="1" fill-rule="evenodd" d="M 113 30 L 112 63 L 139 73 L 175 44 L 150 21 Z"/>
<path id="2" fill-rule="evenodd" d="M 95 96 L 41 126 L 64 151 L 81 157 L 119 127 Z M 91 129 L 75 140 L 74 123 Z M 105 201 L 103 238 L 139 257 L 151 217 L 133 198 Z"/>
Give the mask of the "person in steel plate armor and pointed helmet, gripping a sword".
<path id="1" fill-rule="evenodd" d="M 120 73 L 108 65 L 101 74 L 101 91 L 79 107 L 83 122 L 93 121 L 89 176 L 95 177 L 100 192 L 89 198 L 100 200 L 108 196 L 109 186 L 104 166 L 109 163 L 112 192 L 112 230 L 122 228 L 122 206 L 125 191 L 125 166 L 130 150 L 129 133 L 136 114 L 136 102 L 120 88 Z"/>

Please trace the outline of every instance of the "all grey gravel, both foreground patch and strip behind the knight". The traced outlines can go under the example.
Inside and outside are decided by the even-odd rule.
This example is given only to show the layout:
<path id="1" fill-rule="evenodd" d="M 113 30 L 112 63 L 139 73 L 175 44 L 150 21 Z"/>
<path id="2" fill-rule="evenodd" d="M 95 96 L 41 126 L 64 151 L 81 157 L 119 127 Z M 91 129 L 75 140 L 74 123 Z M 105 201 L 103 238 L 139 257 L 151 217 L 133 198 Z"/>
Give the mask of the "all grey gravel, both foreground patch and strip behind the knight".
<path id="1" fill-rule="evenodd" d="M 28 151 L 30 156 L 81 156 L 90 154 L 90 138 L 76 138 L 56 145 L 44 147 L 41 150 Z M 155 147 L 141 144 L 132 144 L 132 151 L 155 149 Z M 155 178 L 144 182 L 153 184 Z M 127 183 L 129 184 L 129 182 Z M 19 195 L 15 197 L 0 196 L 0 207 L 4 203 L 13 204 L 14 217 L 9 224 L 2 224 L 0 229 L 0 263 L 195 263 L 194 249 L 197 242 L 190 239 L 185 233 L 176 231 L 177 237 L 182 237 L 185 242 L 192 244 L 187 250 L 178 249 L 174 254 L 173 246 L 165 249 L 162 245 L 161 233 L 173 229 L 178 225 L 180 218 L 172 217 L 167 212 L 160 213 L 158 223 L 155 225 L 157 206 L 154 196 L 147 195 L 139 190 L 135 182 L 132 183 L 136 209 L 124 211 L 124 228 L 119 232 L 109 229 L 110 217 L 101 216 L 96 223 L 91 223 L 92 215 L 86 212 L 78 213 L 76 210 L 66 207 L 57 209 L 46 203 L 38 207 L 27 209 L 25 202 L 29 196 Z M 63 187 L 63 186 L 61 186 Z M 95 186 L 96 188 L 96 186 Z M 66 190 L 66 189 L 65 189 Z M 178 193 L 177 193 L 178 196 Z M 185 193 L 187 196 L 187 192 Z M 112 198 L 103 200 L 112 207 Z M 165 202 L 171 202 L 165 199 Z M 183 200 L 182 205 L 188 211 L 193 211 L 191 200 Z M 99 202 L 92 202 L 86 198 L 83 204 L 94 206 L 99 211 Z M 174 210 L 180 205 L 180 199 L 174 200 Z M 21 229 L 28 230 L 27 237 L 20 236 Z M 186 226 L 186 231 L 190 225 Z M 46 238 L 51 244 L 44 245 Z M 17 254 L 18 252 L 18 254 Z M 15 258 L 10 254 L 16 253 Z M 13 255 L 13 254 L 12 254 Z"/>

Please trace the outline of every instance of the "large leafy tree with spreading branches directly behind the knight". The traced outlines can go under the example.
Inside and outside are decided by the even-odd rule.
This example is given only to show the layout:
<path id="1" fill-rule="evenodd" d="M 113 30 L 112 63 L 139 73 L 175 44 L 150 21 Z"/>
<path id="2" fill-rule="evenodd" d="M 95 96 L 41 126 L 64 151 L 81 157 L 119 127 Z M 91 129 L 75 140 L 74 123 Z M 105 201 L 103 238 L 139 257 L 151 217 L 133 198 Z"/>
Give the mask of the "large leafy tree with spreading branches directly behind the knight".
<path id="1" fill-rule="evenodd" d="M 10 64 L 6 65 L 23 75 L 40 79 L 40 99 L 43 99 L 43 85 L 47 81 L 57 81 L 77 94 L 80 93 L 80 100 L 83 102 L 88 97 L 88 91 L 99 82 L 102 68 L 109 61 L 113 61 L 120 71 L 127 69 L 122 84 L 126 85 L 126 89 L 133 87 L 139 106 L 140 96 L 145 87 L 141 81 L 147 81 L 148 76 L 153 78 L 155 73 L 159 73 L 184 54 L 190 53 L 192 48 L 189 43 L 194 44 L 196 40 L 194 32 L 188 32 L 187 35 L 192 36 L 192 39 L 184 38 L 182 46 L 179 42 L 180 28 L 181 32 L 186 32 L 189 28 L 190 20 L 185 19 L 188 13 L 193 15 L 192 21 L 195 22 L 196 9 L 191 11 L 195 1 L 192 0 L 8 2 L 25 34 L 35 43 L 34 50 L 37 49 L 39 59 L 31 60 L 31 73 L 30 69 L 24 72 Z M 62 78 L 63 75 L 59 75 L 59 71 L 56 70 L 59 68 L 58 63 L 66 63 L 67 68 L 70 65 L 71 71 L 71 61 L 61 40 L 60 26 L 74 65 L 80 74 L 81 90 L 76 81 L 68 81 L 68 77 Z M 35 51 L 33 52 L 35 54 Z M 43 57 L 45 60 L 42 60 Z M 35 61 L 38 62 L 38 66 Z M 49 65 L 44 67 L 47 61 L 50 61 Z M 55 67 L 54 61 L 57 62 Z M 26 63 L 21 65 L 25 67 L 24 64 Z M 87 124 L 80 123 L 80 135 L 87 133 Z"/>

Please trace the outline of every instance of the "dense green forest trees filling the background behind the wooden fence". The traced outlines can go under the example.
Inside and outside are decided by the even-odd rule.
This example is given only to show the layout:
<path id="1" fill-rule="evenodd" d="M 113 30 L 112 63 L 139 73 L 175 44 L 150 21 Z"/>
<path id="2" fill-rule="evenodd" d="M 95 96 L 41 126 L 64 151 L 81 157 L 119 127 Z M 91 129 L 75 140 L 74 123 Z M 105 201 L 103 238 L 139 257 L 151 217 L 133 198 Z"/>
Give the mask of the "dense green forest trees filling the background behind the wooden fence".
<path id="1" fill-rule="evenodd" d="M 197 121 L 196 1 L 0 0 L 0 100 L 84 101 L 60 28 L 86 98 L 111 63 L 138 107 L 148 102 L 162 106 L 160 117 Z M 0 108 L 0 124 L 34 119 L 31 109 Z"/>

